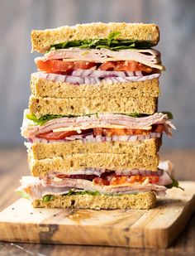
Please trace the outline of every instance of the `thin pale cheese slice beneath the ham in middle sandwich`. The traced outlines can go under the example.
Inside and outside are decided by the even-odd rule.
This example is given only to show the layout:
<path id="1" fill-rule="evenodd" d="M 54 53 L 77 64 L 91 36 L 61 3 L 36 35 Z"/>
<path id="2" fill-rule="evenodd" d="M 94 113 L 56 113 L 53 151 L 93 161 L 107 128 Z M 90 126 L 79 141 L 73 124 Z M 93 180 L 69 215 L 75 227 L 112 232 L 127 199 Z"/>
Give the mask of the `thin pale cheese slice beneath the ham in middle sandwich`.
<path id="1" fill-rule="evenodd" d="M 78 130 L 86 130 L 86 129 L 93 129 L 93 128 L 129 129 L 130 127 L 117 125 L 117 124 L 109 124 L 109 123 L 108 124 L 95 124 L 95 125 L 89 124 L 86 126 L 77 126 L 77 127 L 69 126 L 69 127 L 56 128 L 56 129 L 53 129 L 53 133 L 78 131 Z M 150 130 L 151 128 L 152 128 L 151 126 L 145 126 L 145 127 L 139 128 L 139 130 Z"/>

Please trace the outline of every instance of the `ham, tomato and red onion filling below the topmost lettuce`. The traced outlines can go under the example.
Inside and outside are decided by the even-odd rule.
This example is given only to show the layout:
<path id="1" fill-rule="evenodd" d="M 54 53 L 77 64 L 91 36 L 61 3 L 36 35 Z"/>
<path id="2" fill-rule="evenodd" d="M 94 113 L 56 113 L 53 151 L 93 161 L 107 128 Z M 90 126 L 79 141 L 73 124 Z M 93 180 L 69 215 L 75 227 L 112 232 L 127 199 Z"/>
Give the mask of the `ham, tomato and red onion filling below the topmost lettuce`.
<path id="1" fill-rule="evenodd" d="M 44 57 L 36 58 L 35 61 L 38 70 L 68 75 L 67 80 L 72 75 L 80 79 L 91 75 L 97 80 L 121 76 L 123 76 L 122 81 L 135 80 L 135 76 L 136 79 L 143 76 L 146 76 L 146 79 L 153 79 L 153 76 L 157 76 L 160 70 L 164 70 L 160 53 L 155 49 L 110 51 L 108 49 L 70 48 L 50 51 Z M 58 76 L 59 79 L 62 77 Z"/>

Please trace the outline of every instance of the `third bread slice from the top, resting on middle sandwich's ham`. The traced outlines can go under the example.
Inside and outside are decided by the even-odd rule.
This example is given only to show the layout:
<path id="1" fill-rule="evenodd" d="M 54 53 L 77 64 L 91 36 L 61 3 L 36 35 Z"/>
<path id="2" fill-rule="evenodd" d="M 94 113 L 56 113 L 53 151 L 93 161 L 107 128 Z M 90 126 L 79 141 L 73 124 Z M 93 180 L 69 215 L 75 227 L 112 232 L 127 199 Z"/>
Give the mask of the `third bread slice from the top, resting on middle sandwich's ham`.
<path id="1" fill-rule="evenodd" d="M 117 113 L 117 114 L 155 114 L 157 111 L 157 100 L 155 97 L 102 97 L 96 98 L 40 98 L 33 94 L 29 99 L 31 114 L 37 118 L 45 114 L 62 115 L 84 115 L 95 113 Z"/>

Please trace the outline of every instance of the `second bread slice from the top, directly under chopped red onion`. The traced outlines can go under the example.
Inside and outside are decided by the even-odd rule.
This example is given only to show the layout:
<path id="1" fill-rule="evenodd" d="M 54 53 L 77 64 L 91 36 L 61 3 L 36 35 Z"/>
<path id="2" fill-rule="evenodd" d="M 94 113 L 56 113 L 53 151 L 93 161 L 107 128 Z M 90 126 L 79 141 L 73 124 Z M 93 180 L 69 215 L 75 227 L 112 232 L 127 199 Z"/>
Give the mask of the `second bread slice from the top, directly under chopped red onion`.
<path id="1" fill-rule="evenodd" d="M 97 96 L 130 98 L 158 97 L 159 80 L 145 80 L 127 83 L 109 84 L 102 80 L 98 85 L 73 85 L 65 82 L 54 82 L 31 75 L 31 92 L 36 97 L 50 98 L 95 98 Z"/>

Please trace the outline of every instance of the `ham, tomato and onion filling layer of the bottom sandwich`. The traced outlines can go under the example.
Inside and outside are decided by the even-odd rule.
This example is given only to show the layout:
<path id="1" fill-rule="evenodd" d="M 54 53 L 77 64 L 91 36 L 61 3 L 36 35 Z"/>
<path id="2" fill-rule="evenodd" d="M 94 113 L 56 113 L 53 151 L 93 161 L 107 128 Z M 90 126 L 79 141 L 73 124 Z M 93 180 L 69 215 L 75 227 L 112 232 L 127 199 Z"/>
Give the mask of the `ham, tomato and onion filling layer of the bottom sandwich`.
<path id="1" fill-rule="evenodd" d="M 123 195 L 154 191 L 157 195 L 164 195 L 167 188 L 178 186 L 171 176 L 169 162 L 161 162 L 164 170 L 141 171 L 124 170 L 111 171 L 89 168 L 67 173 L 51 171 L 45 176 L 23 176 L 21 186 L 17 191 L 23 191 L 31 199 L 43 199 L 45 196 L 73 194 L 90 194 L 93 196 Z M 166 187 L 168 186 L 168 187 Z M 52 198 L 52 197 L 50 197 Z"/>

